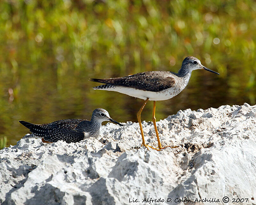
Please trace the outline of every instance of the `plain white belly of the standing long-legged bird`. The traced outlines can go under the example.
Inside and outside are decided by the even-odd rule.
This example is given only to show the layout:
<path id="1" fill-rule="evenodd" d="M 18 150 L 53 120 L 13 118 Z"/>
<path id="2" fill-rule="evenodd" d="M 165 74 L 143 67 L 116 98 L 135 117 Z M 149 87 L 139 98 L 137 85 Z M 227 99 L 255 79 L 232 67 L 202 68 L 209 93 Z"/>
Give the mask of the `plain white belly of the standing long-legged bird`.
<path id="1" fill-rule="evenodd" d="M 134 88 L 127 88 L 127 87 L 121 87 L 121 86 L 105 88 L 105 89 L 97 89 L 97 90 L 116 91 L 126 95 L 130 95 L 135 98 L 140 98 L 144 100 L 148 98 L 149 100 L 154 100 L 154 101 L 171 99 L 182 91 L 180 88 L 177 88 L 177 87 L 168 88 L 160 92 L 152 92 L 152 91 L 142 91 Z"/>

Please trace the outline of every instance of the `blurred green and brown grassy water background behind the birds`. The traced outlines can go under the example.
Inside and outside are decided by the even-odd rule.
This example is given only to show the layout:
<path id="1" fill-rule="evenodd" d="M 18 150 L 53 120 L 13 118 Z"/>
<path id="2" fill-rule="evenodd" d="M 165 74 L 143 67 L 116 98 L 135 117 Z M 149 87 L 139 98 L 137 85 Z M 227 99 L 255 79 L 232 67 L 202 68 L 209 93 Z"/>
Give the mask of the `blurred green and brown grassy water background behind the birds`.
<path id="1" fill-rule="evenodd" d="M 177 72 L 186 56 L 218 71 L 194 71 L 180 95 L 157 102 L 157 120 L 179 109 L 255 104 L 253 0 L 5 0 L 0 2 L 0 137 L 16 144 L 34 123 L 90 119 L 105 108 L 135 121 L 142 100 L 93 91 L 89 78 Z M 150 121 L 152 103 L 142 113 Z"/>

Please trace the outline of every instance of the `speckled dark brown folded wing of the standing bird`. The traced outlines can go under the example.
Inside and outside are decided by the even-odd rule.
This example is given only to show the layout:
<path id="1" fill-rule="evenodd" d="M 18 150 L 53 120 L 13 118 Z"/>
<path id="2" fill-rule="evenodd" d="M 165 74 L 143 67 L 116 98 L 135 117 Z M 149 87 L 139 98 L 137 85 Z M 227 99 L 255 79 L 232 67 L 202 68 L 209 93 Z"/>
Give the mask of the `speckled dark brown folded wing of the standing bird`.
<path id="1" fill-rule="evenodd" d="M 130 87 L 143 91 L 160 92 L 171 88 L 175 84 L 175 79 L 171 75 L 171 72 L 168 71 L 148 71 L 118 78 L 92 78 L 91 81 Z"/>

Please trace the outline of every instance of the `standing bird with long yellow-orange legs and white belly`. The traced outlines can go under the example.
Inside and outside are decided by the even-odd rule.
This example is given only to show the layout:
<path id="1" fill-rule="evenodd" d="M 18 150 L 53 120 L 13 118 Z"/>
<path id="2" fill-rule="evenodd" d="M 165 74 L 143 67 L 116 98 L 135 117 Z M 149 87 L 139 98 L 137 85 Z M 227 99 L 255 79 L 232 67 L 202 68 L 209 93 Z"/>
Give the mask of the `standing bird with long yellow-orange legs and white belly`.
<path id="1" fill-rule="evenodd" d="M 189 56 L 183 60 L 178 73 L 170 71 L 148 71 L 125 77 L 108 79 L 91 78 L 90 80 L 98 83 L 105 83 L 104 85 L 93 87 L 94 90 L 116 91 L 145 100 L 137 113 L 137 118 L 140 125 L 142 146 L 146 146 L 147 148 L 151 146 L 145 144 L 140 115 L 148 100 L 154 101 L 152 121 L 156 131 L 158 149 L 151 148 L 159 151 L 170 146 L 162 147 L 159 140 L 155 117 L 156 101 L 171 99 L 178 95 L 187 86 L 191 72 L 197 69 L 204 69 L 220 75 L 219 73 L 204 67 L 199 59 Z"/>

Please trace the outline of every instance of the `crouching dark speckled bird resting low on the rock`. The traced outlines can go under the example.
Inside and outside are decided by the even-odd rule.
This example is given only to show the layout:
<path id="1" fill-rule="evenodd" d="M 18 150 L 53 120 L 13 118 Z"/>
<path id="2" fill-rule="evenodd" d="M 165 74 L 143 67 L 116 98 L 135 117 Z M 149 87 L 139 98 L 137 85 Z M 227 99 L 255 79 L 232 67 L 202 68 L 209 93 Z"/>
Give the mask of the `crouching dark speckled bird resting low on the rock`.
<path id="1" fill-rule="evenodd" d="M 32 134 L 23 138 L 42 138 L 43 142 L 57 142 L 58 140 L 67 143 L 79 142 L 88 137 L 97 138 L 100 134 L 101 122 L 109 121 L 119 124 L 113 120 L 107 110 L 97 108 L 92 113 L 91 121 L 81 119 L 66 119 L 51 122 L 48 124 L 32 124 L 30 122 L 19 121 L 27 127 Z"/>

